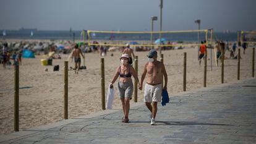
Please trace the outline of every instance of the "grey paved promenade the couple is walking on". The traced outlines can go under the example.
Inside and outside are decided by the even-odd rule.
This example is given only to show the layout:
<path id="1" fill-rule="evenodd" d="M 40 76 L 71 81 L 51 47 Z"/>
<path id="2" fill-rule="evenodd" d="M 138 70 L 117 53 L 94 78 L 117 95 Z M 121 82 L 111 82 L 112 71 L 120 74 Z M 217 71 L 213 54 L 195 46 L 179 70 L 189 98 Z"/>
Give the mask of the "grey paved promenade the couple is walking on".
<path id="1" fill-rule="evenodd" d="M 256 143 L 256 79 L 179 93 L 150 125 L 143 103 L 0 136 L 0 143 Z"/>

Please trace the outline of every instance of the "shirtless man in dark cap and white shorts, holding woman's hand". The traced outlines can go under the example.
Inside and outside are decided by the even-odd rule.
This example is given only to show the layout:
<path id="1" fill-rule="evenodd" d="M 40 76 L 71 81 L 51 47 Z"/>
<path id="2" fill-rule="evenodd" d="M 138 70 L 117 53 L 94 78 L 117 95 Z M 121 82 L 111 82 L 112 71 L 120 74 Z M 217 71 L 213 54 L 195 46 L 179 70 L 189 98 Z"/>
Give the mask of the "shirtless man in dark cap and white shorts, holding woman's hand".
<path id="1" fill-rule="evenodd" d="M 157 112 L 157 103 L 161 102 L 162 85 L 164 76 L 164 89 L 167 89 L 168 77 L 164 64 L 157 61 L 157 52 L 155 49 L 151 49 L 148 53 L 148 62 L 145 64 L 145 68 L 142 74 L 141 83 L 139 89 L 142 90 L 142 83 L 147 75 L 147 81 L 144 90 L 144 102 L 147 108 L 150 110 L 150 124 L 155 125 L 155 117 Z"/>

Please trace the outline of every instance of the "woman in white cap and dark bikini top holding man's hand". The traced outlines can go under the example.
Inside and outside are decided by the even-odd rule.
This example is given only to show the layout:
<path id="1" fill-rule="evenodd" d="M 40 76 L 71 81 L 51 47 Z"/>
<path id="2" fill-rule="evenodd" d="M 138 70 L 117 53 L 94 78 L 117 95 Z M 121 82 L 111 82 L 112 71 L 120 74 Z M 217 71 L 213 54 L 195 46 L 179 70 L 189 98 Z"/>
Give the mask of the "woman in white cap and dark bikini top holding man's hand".
<path id="1" fill-rule="evenodd" d="M 134 91 L 134 84 L 132 83 L 132 76 L 135 78 L 135 82 L 139 82 L 139 78 L 137 72 L 135 72 L 134 68 L 130 66 L 129 55 L 122 54 L 120 57 L 121 66 L 116 68 L 116 72 L 114 73 L 114 77 L 111 80 L 109 88 L 113 88 L 113 83 L 116 82 L 116 79 L 119 78 L 119 82 L 117 83 L 119 98 L 122 102 L 122 111 L 124 112 L 124 117 L 122 117 L 122 122 L 129 122 L 129 110 L 130 110 L 130 100 L 132 99 L 132 93 Z"/>

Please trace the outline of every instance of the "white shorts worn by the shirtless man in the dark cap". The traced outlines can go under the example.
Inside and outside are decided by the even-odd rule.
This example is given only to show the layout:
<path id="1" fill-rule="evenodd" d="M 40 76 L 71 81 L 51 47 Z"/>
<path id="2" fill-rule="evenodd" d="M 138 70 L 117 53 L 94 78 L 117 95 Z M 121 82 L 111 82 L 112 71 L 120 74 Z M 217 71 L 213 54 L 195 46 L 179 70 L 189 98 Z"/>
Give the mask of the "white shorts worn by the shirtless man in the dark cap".
<path id="1" fill-rule="evenodd" d="M 158 85 L 145 84 L 144 102 L 151 103 L 152 101 L 160 101 L 162 97 L 162 83 Z"/>

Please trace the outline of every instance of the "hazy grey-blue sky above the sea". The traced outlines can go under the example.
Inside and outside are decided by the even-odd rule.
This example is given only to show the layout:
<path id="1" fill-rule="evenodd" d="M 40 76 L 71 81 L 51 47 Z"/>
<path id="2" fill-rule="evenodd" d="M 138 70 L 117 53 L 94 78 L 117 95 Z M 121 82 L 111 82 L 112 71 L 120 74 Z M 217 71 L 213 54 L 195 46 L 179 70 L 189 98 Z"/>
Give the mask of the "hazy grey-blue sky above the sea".
<path id="1" fill-rule="evenodd" d="M 0 0 L 0 30 L 160 30 L 160 0 Z M 256 30 L 255 0 L 163 0 L 162 30 Z"/>

